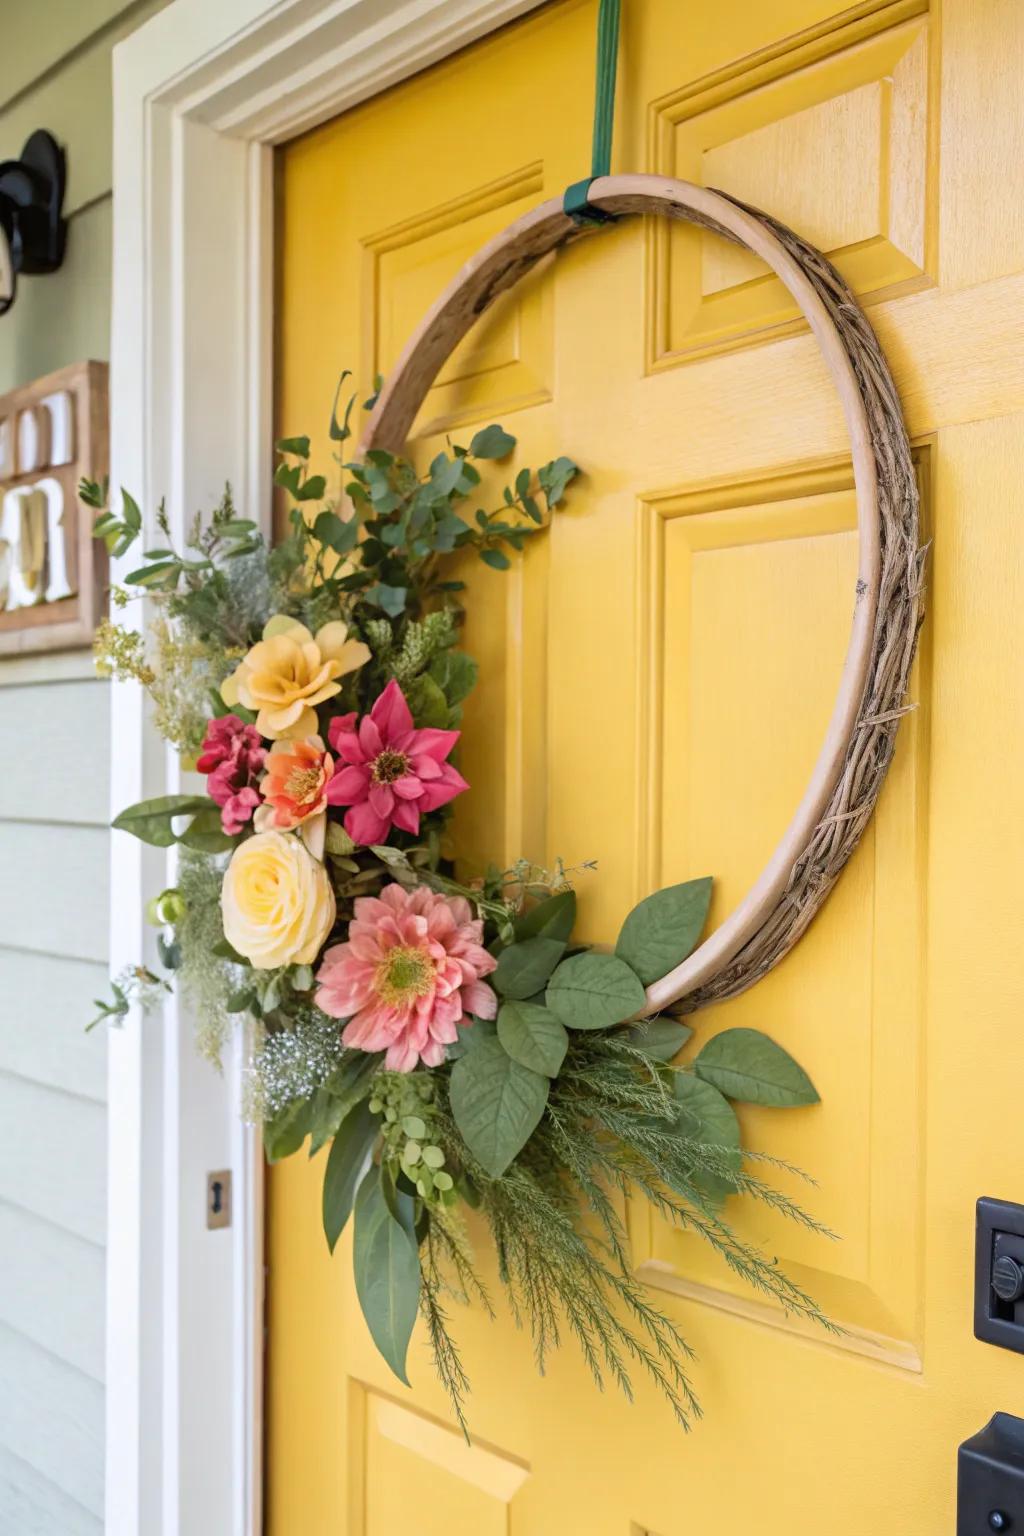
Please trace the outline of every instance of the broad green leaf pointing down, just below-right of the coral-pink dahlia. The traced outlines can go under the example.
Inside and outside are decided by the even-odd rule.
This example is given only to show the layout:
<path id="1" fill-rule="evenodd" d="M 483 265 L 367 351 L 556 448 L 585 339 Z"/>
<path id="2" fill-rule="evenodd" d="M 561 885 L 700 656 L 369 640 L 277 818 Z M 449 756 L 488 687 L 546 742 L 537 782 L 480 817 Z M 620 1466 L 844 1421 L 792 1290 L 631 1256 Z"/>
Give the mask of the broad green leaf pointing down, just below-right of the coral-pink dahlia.
<path id="1" fill-rule="evenodd" d="M 500 1178 L 537 1129 L 550 1083 L 484 1035 L 451 1069 L 448 1101 L 473 1157 Z"/>

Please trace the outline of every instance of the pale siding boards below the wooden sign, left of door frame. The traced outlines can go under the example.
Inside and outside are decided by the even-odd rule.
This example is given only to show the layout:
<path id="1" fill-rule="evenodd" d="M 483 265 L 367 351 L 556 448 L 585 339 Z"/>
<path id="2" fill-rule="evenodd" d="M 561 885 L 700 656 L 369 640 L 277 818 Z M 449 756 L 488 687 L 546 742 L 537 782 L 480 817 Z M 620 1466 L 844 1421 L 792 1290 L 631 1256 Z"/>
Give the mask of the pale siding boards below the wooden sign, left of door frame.
<path id="1" fill-rule="evenodd" d="M 97 1536 L 109 685 L 0 662 L 0 1531 Z"/>

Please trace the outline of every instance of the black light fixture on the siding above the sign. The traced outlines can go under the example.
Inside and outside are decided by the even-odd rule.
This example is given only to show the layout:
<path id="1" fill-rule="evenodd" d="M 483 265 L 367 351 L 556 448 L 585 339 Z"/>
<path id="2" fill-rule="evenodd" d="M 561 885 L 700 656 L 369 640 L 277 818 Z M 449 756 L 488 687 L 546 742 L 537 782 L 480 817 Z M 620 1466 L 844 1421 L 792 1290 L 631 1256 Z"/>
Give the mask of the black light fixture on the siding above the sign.
<path id="1" fill-rule="evenodd" d="M 14 304 L 18 272 L 55 272 L 64 260 L 64 152 L 45 129 L 20 160 L 0 161 L 0 315 Z"/>

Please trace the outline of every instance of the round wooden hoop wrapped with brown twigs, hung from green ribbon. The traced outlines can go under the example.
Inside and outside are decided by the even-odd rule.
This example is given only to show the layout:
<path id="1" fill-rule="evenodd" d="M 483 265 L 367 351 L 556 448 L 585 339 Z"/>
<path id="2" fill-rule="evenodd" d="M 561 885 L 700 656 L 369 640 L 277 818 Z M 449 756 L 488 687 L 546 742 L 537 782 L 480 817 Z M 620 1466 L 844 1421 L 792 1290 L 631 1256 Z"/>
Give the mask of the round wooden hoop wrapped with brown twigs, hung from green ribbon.
<path id="1" fill-rule="evenodd" d="M 851 436 L 860 541 L 854 622 L 811 780 L 743 900 L 646 992 L 646 1012 L 695 1008 L 752 986 L 797 943 L 870 819 L 892 759 L 923 607 L 918 490 L 892 375 L 874 330 L 826 258 L 766 214 L 723 192 L 652 175 L 599 177 L 590 204 L 699 224 L 752 250 L 778 275 L 815 335 Z M 531 209 L 448 284 L 381 390 L 362 450 L 399 453 L 438 372 L 488 306 L 553 250 L 600 230 L 560 198 Z"/>

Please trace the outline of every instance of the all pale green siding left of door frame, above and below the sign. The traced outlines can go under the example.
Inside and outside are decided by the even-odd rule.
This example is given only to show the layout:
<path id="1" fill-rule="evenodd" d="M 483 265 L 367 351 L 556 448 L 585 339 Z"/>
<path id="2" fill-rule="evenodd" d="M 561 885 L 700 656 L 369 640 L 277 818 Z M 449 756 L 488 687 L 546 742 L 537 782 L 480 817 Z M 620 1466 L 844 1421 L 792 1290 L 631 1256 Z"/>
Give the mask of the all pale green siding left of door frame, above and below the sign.
<path id="1" fill-rule="evenodd" d="M 0 318 L 0 393 L 111 327 L 111 51 L 164 0 L 0 0 L 0 158 L 68 154 L 68 257 Z M 100 1536 L 109 690 L 88 653 L 0 659 L 0 1531 Z"/>

